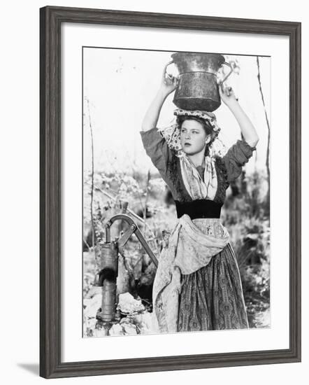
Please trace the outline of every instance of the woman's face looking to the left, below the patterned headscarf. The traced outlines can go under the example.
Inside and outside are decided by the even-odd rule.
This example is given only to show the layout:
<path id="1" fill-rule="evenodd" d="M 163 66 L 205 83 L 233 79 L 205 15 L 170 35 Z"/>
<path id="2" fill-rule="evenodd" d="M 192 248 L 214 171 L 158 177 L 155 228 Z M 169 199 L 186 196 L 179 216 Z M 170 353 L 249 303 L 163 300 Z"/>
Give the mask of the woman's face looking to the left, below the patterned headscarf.
<path id="1" fill-rule="evenodd" d="M 187 155 L 205 151 L 210 135 L 206 135 L 203 125 L 196 120 L 185 120 L 180 127 L 180 144 Z"/>

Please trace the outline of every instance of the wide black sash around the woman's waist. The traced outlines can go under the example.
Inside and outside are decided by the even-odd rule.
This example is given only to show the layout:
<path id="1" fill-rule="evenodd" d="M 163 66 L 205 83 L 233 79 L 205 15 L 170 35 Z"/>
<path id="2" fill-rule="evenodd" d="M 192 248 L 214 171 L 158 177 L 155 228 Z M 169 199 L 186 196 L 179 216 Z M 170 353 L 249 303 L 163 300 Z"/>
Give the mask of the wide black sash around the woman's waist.
<path id="1" fill-rule="evenodd" d="M 192 202 L 179 202 L 175 200 L 177 218 L 187 214 L 191 219 L 220 218 L 222 204 L 213 200 L 193 200 Z"/>

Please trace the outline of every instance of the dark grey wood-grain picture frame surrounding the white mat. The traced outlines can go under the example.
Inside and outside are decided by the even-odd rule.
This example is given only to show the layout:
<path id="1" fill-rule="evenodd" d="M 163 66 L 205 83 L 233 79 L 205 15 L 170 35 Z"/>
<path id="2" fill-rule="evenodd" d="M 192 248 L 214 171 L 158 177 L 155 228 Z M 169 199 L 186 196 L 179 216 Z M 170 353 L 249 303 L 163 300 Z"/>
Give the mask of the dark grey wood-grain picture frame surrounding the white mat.
<path id="1" fill-rule="evenodd" d="M 61 23 L 289 36 L 290 347 L 285 350 L 61 362 Z M 45 378 L 301 360 L 301 23 L 45 7 L 40 10 L 40 375 Z"/>

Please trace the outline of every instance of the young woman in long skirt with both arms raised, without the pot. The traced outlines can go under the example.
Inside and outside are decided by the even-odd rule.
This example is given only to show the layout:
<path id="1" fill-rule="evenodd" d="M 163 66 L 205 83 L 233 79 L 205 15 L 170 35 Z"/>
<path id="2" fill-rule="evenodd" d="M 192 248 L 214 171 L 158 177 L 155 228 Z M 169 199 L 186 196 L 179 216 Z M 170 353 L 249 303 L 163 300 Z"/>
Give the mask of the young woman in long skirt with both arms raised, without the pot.
<path id="1" fill-rule="evenodd" d="M 211 151 L 220 130 L 213 113 L 176 109 L 175 125 L 159 132 L 161 106 L 178 81 L 166 73 L 168 64 L 141 131 L 145 151 L 170 188 L 179 218 L 159 257 L 152 293 L 154 327 L 157 332 L 247 328 L 238 265 L 220 209 L 229 183 L 240 175 L 259 138 L 231 87 L 222 84 L 220 97 L 243 135 L 224 156 Z"/>

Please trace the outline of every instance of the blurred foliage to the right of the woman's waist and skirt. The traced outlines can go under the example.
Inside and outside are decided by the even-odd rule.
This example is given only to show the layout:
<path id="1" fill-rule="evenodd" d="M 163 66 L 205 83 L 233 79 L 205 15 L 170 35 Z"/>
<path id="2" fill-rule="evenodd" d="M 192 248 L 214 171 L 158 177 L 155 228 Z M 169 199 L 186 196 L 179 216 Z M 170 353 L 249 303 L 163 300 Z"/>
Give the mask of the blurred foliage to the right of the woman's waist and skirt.
<path id="1" fill-rule="evenodd" d="M 250 176 L 243 172 L 237 181 L 240 193 L 227 197 L 222 213 L 238 260 L 251 328 L 269 326 L 270 223 L 266 178 L 261 172 Z"/>

